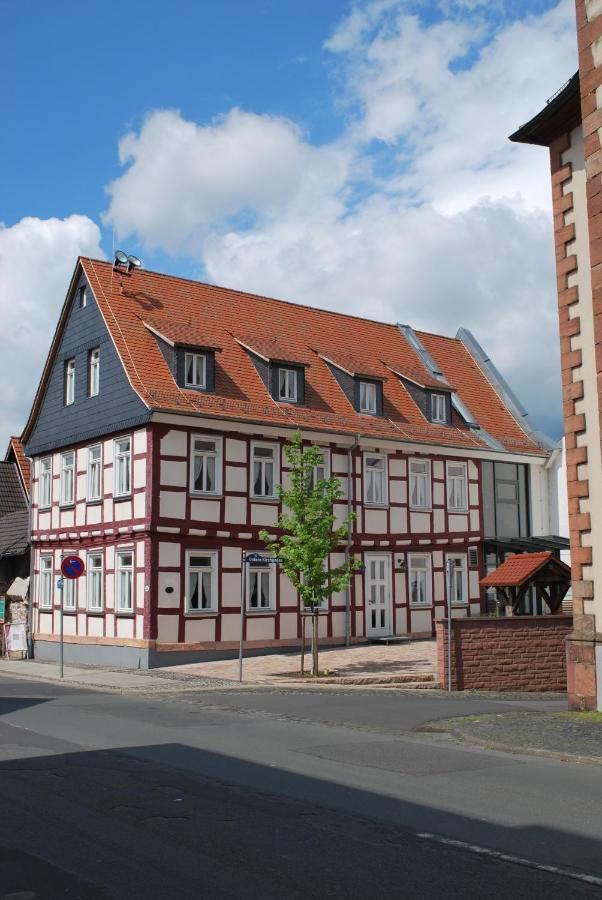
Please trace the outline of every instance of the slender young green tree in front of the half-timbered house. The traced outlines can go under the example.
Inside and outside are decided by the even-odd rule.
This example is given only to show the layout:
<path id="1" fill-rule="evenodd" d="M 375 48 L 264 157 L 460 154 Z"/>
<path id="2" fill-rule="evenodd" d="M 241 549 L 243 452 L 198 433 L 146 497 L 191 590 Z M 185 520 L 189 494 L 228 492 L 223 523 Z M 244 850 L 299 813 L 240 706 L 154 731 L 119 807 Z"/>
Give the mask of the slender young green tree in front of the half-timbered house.
<path id="1" fill-rule="evenodd" d="M 260 537 L 268 551 L 283 560 L 282 568 L 299 593 L 301 611 L 311 610 L 312 674 L 317 676 L 319 607 L 331 594 L 344 590 L 361 565 L 359 559 L 351 557 L 342 566 L 328 570 L 326 561 L 332 551 L 340 550 L 347 541 L 355 514 L 335 528 L 333 503 L 341 498 L 341 484 L 336 477 L 315 477 L 316 467 L 324 461 L 319 447 L 304 447 L 301 432 L 297 431 L 284 452 L 290 484 L 277 488 L 283 509 L 277 527 L 283 534 L 274 541 L 270 541 L 267 531 L 262 531 Z"/>

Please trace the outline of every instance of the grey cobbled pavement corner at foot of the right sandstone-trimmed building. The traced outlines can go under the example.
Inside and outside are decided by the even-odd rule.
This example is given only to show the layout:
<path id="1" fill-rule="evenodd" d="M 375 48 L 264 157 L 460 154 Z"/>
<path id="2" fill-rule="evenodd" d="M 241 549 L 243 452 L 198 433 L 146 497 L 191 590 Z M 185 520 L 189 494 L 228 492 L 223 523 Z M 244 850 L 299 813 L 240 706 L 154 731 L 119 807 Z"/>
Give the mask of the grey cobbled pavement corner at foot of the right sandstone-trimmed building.
<path id="1" fill-rule="evenodd" d="M 462 716 L 421 726 L 492 750 L 602 765 L 602 713 L 524 710 Z"/>

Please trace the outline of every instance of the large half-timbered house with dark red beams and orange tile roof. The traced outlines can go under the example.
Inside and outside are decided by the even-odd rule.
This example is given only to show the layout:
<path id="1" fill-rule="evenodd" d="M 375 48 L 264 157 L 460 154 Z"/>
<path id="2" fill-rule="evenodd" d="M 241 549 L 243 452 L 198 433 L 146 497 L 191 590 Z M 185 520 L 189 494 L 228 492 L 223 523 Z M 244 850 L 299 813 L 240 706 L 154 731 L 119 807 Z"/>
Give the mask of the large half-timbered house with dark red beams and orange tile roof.
<path id="1" fill-rule="evenodd" d="M 241 572 L 274 529 L 295 430 L 336 475 L 364 570 L 320 619 L 324 641 L 431 635 L 448 596 L 476 615 L 509 552 L 558 552 L 548 464 L 465 329 L 455 338 L 79 259 L 22 439 L 32 461 L 36 653 L 149 666 L 298 641 L 275 567 Z"/>

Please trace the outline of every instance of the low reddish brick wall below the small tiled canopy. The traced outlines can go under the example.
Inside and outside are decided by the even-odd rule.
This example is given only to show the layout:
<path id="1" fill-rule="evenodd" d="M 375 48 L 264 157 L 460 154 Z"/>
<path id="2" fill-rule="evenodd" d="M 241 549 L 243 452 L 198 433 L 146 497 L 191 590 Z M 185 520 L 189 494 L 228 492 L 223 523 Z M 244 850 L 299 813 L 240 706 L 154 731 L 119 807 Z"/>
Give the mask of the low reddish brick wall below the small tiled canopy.
<path id="1" fill-rule="evenodd" d="M 447 620 L 436 623 L 439 682 L 447 687 Z M 454 619 L 452 688 L 566 691 L 572 616 Z"/>

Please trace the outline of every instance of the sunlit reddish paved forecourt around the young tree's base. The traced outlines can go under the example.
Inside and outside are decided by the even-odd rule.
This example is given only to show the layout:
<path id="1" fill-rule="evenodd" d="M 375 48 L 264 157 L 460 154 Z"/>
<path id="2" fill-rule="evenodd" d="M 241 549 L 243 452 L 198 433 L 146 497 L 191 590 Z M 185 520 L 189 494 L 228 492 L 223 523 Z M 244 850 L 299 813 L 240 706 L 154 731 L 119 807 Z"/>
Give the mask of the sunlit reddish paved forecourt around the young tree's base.
<path id="1" fill-rule="evenodd" d="M 320 650 L 320 684 L 436 686 L 437 647 L 434 640 L 397 644 L 355 644 Z M 305 671 L 311 670 L 311 654 L 305 654 Z M 238 679 L 238 660 L 200 662 L 174 666 L 178 671 L 205 678 Z M 243 677 L 256 684 L 301 682 L 300 653 L 272 653 L 245 658 Z M 314 682 L 315 683 L 315 682 Z"/>

